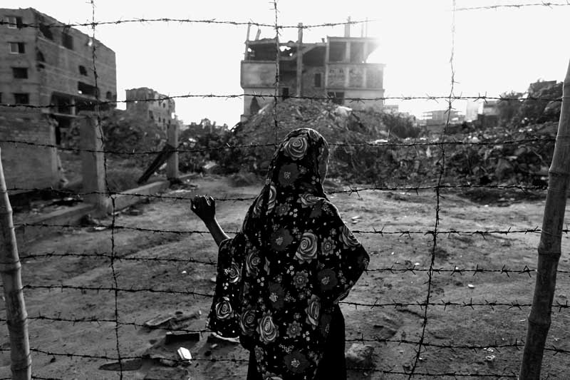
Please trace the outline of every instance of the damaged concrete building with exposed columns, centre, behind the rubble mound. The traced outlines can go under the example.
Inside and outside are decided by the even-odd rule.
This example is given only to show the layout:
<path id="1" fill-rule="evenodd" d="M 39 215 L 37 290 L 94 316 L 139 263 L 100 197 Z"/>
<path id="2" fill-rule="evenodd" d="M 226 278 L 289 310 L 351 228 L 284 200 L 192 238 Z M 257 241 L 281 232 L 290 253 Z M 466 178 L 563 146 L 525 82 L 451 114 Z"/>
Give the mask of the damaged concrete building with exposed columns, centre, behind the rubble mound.
<path id="1" fill-rule="evenodd" d="M 383 101 L 350 102 L 349 98 L 382 98 L 383 63 L 368 63 L 368 56 L 378 48 L 370 37 L 351 37 L 351 24 L 346 24 L 342 37 L 327 36 L 321 42 L 305 43 L 303 26 L 299 24 L 296 42 L 279 43 L 275 38 L 249 39 L 245 42 L 241 67 L 244 93 L 242 119 L 257 113 L 273 99 L 276 70 L 279 64 L 278 96 L 315 96 L 356 109 L 383 108 Z M 263 97 L 265 96 L 265 97 Z"/>

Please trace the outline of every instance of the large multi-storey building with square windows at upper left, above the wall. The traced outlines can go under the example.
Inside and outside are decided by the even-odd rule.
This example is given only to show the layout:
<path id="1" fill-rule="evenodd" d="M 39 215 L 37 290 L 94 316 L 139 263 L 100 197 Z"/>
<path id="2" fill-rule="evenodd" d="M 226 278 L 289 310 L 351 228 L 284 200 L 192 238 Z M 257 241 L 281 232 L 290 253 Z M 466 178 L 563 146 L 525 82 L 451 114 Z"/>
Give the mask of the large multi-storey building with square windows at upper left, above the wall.
<path id="1" fill-rule="evenodd" d="M 0 18 L 1 103 L 53 105 L 44 112 L 57 121 L 59 143 L 60 132 L 79 111 L 92 111 L 97 98 L 116 101 L 115 52 L 110 48 L 33 8 L 0 9 Z"/>

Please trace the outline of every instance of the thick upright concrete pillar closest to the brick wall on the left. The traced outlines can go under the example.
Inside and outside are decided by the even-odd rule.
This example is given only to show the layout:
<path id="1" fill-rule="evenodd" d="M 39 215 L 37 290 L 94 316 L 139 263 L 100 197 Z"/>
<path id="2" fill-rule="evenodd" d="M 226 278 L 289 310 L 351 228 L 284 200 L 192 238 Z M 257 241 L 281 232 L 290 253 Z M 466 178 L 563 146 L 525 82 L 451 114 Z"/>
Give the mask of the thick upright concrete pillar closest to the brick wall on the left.
<path id="1" fill-rule="evenodd" d="M 81 148 L 81 174 L 83 175 L 83 192 L 86 202 L 95 205 L 98 217 L 110 211 L 110 198 L 105 183 L 105 153 L 103 138 L 97 120 L 92 115 L 78 118 Z"/>

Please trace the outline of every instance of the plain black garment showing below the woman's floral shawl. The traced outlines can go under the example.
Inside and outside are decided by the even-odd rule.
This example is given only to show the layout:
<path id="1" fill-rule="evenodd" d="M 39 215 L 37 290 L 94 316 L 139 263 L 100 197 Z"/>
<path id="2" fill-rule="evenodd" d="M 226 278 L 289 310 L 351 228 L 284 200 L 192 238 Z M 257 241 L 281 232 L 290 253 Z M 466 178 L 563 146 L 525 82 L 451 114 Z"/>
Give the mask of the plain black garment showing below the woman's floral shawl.
<path id="1" fill-rule="evenodd" d="M 318 364 L 315 380 L 346 379 L 346 359 L 344 351 L 346 349 L 344 335 L 344 317 L 341 308 L 337 305 L 333 307 L 330 332 L 326 342 L 326 351 L 323 359 Z M 254 351 L 249 352 L 249 365 L 247 367 L 247 380 L 262 380 L 257 371 Z"/>

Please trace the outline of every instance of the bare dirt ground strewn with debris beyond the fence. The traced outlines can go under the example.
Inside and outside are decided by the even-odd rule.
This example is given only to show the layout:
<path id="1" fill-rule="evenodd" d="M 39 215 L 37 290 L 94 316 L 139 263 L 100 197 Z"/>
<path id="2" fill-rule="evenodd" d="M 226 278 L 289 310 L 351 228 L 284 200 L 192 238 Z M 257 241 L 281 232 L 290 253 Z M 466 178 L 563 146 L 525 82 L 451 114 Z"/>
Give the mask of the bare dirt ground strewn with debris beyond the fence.
<path id="1" fill-rule="evenodd" d="M 198 178 L 196 189 L 172 190 L 165 195 L 191 198 L 211 194 L 219 199 L 252 197 L 259 185 L 232 187 L 224 178 Z M 328 189 L 334 190 L 334 189 Z M 435 223 L 435 193 L 373 192 L 333 194 L 331 201 L 341 211 L 353 230 L 432 230 Z M 105 254 L 113 250 L 118 260 L 113 267 L 118 291 L 116 307 L 120 325 L 115 330 L 115 292 L 96 289 L 44 289 L 43 285 L 72 287 L 113 287 L 113 271 L 108 257 L 36 257 L 24 260 L 23 282 L 32 285 L 25 291 L 30 342 L 33 348 L 33 374 L 41 378 L 119 379 L 113 358 L 117 349 L 125 359 L 123 379 L 244 379 L 247 352 L 237 344 L 215 342 L 202 333 L 199 341 L 161 344 L 166 329 L 148 329 L 141 325 L 148 319 L 175 312 L 202 316 L 187 319 L 185 329 L 203 330 L 210 299 L 199 295 L 140 291 L 136 289 L 172 290 L 176 292 L 212 293 L 214 266 L 197 264 L 190 259 L 215 262 L 217 250 L 209 235 L 185 231 L 204 230 L 190 212 L 185 200 L 151 200 L 136 206 L 140 212 L 117 215 L 116 225 L 150 230 L 93 231 L 93 227 L 62 229 L 57 235 L 20 247 L 21 257 L 46 252 Z M 217 217 L 226 231 L 241 225 L 249 202 L 217 202 Z M 544 201 L 512 200 L 484 205 L 458 195 L 442 192 L 440 230 L 508 230 L 541 226 Z M 135 215 L 139 214 L 139 215 Z M 357 217 L 354 218 L 353 217 Z M 352 222 L 352 221 L 355 222 Z M 104 223 L 109 223 L 110 219 Z M 370 269 L 427 269 L 432 253 L 432 236 L 422 234 L 381 235 L 358 233 L 371 254 Z M 435 268 L 522 270 L 534 269 L 537 262 L 537 233 L 508 235 L 439 235 L 435 250 Z M 570 270 L 569 237 L 564 236 L 559 269 Z M 158 257 L 180 261 L 138 260 Z M 137 260 L 133 260 L 137 259 Z M 185 261 L 187 260 L 187 261 Z M 530 273 L 455 273 L 435 272 L 432 278 L 432 302 L 520 303 L 529 304 L 534 289 L 534 270 Z M 34 288 L 35 286 L 35 288 Z M 354 287 L 346 302 L 364 304 L 415 304 L 424 302 L 427 272 L 371 270 Z M 570 297 L 569 274 L 560 273 L 554 302 L 566 304 Z M 2 304 L 4 308 L 4 304 Z M 346 318 L 347 349 L 358 339 L 391 339 L 418 342 L 424 310 L 420 306 L 355 307 L 342 304 Z M 417 372 L 420 374 L 453 373 L 517 374 L 522 350 L 445 348 L 443 346 L 497 346 L 524 340 L 529 307 L 507 306 L 431 306 L 425 346 L 421 351 Z M 0 310 L 5 315 L 5 310 Z M 39 319 L 43 316 L 49 319 Z M 35 318 L 34 318 L 35 317 Z M 61 320 L 53 320 L 61 319 Z M 89 321 L 78 322 L 77 319 Z M 95 320 L 95 322 L 92 322 Z M 75 321 L 75 322 L 73 322 Z M 188 322 L 189 321 L 189 322 Z M 546 345 L 570 349 L 570 310 L 554 310 Z M 117 345 L 116 336 L 119 344 Z M 9 377 L 9 339 L 2 332 L 0 378 Z M 356 342 L 358 343 L 358 342 Z M 365 342 L 374 347 L 373 371 L 350 371 L 350 379 L 406 379 L 399 374 L 410 369 L 418 346 L 405 342 Z M 154 346 L 154 348 L 152 348 Z M 185 346 L 195 358 L 186 367 L 170 367 L 172 349 Z M 150 350 L 150 351 L 149 351 Z M 149 359 L 152 352 L 162 360 Z M 151 354 L 149 354 L 151 353 Z M 73 354 L 73 355 L 71 355 Z M 93 359 L 84 356 L 106 356 Z M 170 355 L 170 356 L 169 356 Z M 140 356 L 147 359 L 138 360 Z M 130 358 L 130 359 L 129 359 Z M 220 361 L 212 359 L 222 359 Z M 544 355 L 542 376 L 568 379 L 568 354 Z M 103 366 L 104 369 L 100 369 Z M 453 379 L 452 376 L 423 376 L 415 379 Z M 462 376 L 457 376 L 462 378 Z"/>

